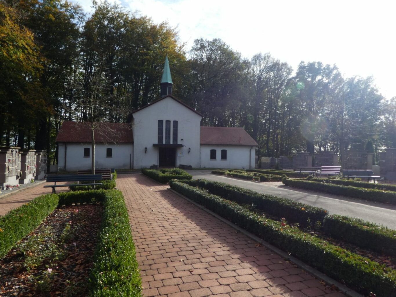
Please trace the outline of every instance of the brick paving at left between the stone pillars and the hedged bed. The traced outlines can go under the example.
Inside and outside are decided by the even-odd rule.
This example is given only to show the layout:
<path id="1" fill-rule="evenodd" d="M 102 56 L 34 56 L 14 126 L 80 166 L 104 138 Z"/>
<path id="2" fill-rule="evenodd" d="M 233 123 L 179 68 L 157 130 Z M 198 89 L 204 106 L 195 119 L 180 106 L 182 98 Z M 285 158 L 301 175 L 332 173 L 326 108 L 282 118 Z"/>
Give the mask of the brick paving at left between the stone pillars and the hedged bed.
<path id="1" fill-rule="evenodd" d="M 67 183 L 68 182 L 61 182 L 57 183 L 57 185 L 65 185 Z M 39 183 L 38 185 L 24 188 L 15 193 L 0 197 L 0 215 L 5 215 L 11 209 L 18 208 L 19 206 L 26 204 L 30 200 L 33 200 L 37 196 L 51 194 L 52 188 L 43 188 L 44 185 L 46 185 L 46 183 Z M 63 191 L 69 191 L 69 188 L 60 187 L 56 190 L 57 193 Z"/>

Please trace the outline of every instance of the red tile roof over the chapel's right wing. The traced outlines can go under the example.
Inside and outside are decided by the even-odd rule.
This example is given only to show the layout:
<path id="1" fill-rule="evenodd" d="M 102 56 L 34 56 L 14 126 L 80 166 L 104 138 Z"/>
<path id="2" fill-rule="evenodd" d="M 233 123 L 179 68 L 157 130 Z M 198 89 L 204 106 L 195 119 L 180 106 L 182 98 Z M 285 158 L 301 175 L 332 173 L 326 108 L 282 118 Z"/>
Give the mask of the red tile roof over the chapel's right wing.
<path id="1" fill-rule="evenodd" d="M 201 127 L 201 145 L 258 146 L 243 128 Z"/>

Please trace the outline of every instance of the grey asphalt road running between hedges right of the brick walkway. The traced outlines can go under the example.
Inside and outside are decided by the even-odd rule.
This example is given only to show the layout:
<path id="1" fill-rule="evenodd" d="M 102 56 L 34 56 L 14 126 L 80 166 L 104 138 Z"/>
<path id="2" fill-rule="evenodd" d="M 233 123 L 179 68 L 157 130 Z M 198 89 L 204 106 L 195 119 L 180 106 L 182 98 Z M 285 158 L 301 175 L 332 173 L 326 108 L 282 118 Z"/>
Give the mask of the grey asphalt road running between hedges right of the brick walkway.
<path id="1" fill-rule="evenodd" d="M 211 174 L 204 170 L 187 170 L 194 179 L 208 179 L 210 181 L 220 181 L 238 187 L 263 194 L 292 199 L 312 206 L 325 208 L 331 214 L 347 215 L 358 217 L 365 221 L 384 225 L 388 228 L 396 229 L 396 205 L 369 202 L 344 196 L 300 190 L 286 187 L 280 183 L 265 183 L 234 179 L 221 175 Z"/>

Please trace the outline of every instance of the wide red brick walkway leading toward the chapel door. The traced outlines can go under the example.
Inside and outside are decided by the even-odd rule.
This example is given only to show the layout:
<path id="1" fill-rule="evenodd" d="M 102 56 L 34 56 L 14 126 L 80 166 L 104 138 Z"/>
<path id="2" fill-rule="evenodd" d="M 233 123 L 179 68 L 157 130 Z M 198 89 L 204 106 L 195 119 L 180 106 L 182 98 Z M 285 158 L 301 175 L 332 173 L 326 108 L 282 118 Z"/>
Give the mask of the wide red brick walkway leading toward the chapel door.
<path id="1" fill-rule="evenodd" d="M 120 174 L 143 294 L 345 297 L 141 174 Z"/>

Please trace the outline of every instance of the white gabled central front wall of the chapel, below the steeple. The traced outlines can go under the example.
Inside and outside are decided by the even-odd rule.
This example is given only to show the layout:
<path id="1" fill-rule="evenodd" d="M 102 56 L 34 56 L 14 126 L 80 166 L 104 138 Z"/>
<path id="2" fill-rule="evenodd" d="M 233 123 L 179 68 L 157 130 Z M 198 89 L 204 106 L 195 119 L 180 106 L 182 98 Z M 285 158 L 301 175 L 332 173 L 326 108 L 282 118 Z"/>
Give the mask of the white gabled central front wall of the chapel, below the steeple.
<path id="1" fill-rule="evenodd" d="M 188 109 L 171 97 L 133 113 L 134 157 L 133 168 L 150 167 L 159 164 L 158 120 L 164 121 L 163 142 L 165 143 L 165 121 L 171 121 L 171 139 L 173 144 L 173 121 L 178 122 L 176 148 L 176 167 L 180 164 L 200 167 L 200 122 L 202 116 Z M 145 148 L 147 147 L 147 152 Z M 190 153 L 188 153 L 190 148 Z"/>

